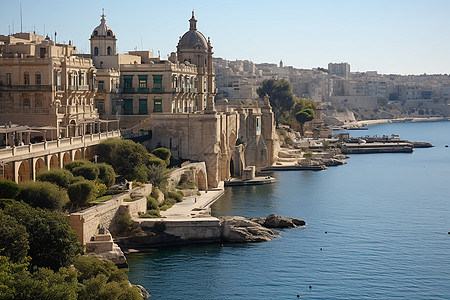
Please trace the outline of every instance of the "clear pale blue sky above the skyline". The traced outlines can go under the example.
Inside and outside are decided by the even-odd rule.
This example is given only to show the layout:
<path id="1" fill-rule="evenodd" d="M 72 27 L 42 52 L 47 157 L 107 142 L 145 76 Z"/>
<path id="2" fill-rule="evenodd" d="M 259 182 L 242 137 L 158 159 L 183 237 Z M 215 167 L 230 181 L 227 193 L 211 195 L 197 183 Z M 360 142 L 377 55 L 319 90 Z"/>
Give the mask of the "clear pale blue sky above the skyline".
<path id="1" fill-rule="evenodd" d="M 54 35 L 89 52 L 89 37 L 106 24 L 119 53 L 176 51 L 189 29 L 211 38 L 214 57 L 279 63 L 301 69 L 348 62 L 352 72 L 450 73 L 449 0 L 0 0 L 0 34 Z"/>

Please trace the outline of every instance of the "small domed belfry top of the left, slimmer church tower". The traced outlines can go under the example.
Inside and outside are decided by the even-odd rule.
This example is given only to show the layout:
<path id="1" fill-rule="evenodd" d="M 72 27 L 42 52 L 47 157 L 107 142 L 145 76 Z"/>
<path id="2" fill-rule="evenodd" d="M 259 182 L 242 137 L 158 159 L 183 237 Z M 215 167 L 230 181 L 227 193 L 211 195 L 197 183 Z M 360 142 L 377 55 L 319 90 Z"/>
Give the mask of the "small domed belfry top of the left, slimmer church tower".
<path id="1" fill-rule="evenodd" d="M 106 26 L 105 14 L 102 14 L 100 25 L 94 28 L 91 38 L 91 56 L 115 55 L 116 36 L 114 32 Z"/>

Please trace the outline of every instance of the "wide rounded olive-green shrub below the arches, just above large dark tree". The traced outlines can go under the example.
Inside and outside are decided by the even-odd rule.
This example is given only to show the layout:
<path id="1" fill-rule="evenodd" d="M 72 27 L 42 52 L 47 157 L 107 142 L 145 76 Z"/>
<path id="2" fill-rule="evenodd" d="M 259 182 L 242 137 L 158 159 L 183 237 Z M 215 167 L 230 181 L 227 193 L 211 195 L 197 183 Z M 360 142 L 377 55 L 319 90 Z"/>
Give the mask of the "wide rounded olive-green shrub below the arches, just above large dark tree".
<path id="1" fill-rule="evenodd" d="M 16 197 L 33 207 L 60 210 L 67 203 L 67 192 L 56 184 L 41 181 L 20 183 L 20 193 Z"/>

